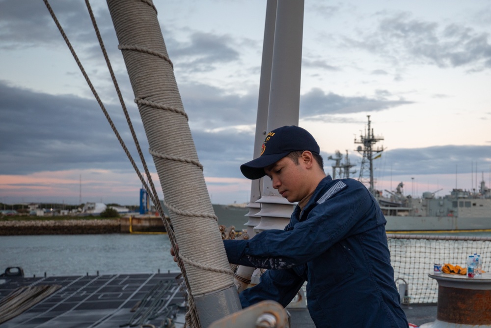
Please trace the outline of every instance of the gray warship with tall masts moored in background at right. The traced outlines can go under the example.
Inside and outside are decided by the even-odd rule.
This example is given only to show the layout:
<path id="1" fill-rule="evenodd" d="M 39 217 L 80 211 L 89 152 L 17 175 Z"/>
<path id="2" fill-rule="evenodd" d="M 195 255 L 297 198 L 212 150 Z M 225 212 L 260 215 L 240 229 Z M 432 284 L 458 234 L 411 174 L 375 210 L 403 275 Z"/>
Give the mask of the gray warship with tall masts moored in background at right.
<path id="1" fill-rule="evenodd" d="M 484 177 L 478 190 L 468 191 L 453 189 L 449 195 L 436 197 L 435 192 L 423 192 L 422 197 L 406 196 L 404 184 L 400 182 L 396 190 L 375 189 L 372 161 L 380 157 L 383 147 L 373 147 L 383 140 L 375 136 L 370 127 L 355 144 L 360 144 L 356 151 L 363 155 L 358 180 L 363 182 L 375 196 L 387 220 L 385 229 L 390 233 L 436 233 L 436 232 L 491 232 L 491 189 L 486 186 Z M 362 146 L 361 146 L 362 145 Z M 344 161 L 343 161 L 344 157 Z M 350 178 L 356 171 L 350 163 L 348 151 L 343 156 L 336 151 L 332 165 L 332 178 Z"/>

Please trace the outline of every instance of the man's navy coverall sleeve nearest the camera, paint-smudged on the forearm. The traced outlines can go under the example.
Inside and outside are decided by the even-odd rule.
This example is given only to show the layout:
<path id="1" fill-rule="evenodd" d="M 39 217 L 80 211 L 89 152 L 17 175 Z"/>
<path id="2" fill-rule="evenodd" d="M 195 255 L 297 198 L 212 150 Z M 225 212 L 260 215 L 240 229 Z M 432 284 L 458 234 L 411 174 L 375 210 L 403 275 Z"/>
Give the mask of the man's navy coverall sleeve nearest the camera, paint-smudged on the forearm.
<path id="1" fill-rule="evenodd" d="M 305 264 L 341 239 L 383 224 L 369 219 L 376 215 L 366 215 L 377 209 L 373 202 L 366 187 L 356 181 L 316 204 L 308 217 L 290 230 L 266 230 L 249 240 L 224 240 L 228 260 L 254 268 Z"/>

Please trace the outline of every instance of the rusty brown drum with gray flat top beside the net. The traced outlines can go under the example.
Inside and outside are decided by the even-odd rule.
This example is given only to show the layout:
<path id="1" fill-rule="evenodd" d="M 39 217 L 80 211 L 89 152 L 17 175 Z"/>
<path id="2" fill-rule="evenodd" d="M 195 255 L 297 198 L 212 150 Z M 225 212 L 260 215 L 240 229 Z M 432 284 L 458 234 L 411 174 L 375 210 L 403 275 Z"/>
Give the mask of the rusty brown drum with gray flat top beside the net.
<path id="1" fill-rule="evenodd" d="M 436 321 L 420 328 L 491 327 L 491 273 L 429 273 L 438 282 Z"/>

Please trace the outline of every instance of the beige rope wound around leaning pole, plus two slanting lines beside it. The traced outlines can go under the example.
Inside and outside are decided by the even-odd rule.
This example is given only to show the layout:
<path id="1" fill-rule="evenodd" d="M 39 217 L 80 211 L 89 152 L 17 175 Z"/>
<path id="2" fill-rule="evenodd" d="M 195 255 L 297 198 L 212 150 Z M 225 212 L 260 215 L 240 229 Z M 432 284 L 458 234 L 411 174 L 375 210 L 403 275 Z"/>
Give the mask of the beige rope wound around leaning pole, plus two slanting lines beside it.
<path id="1" fill-rule="evenodd" d="M 179 239 L 178 266 L 183 273 L 189 292 L 190 311 L 186 316 L 187 324 L 190 327 L 197 328 L 201 327 L 201 325 L 193 295 L 206 295 L 232 286 L 233 271 L 230 270 L 226 260 L 223 245 L 220 247 L 217 243 L 217 240 L 221 243 L 216 223 L 218 218 L 213 212 L 206 184 L 204 183 L 203 166 L 197 158 L 189 130 L 188 115 L 184 111 L 175 82 L 173 63 L 168 58 L 162 32 L 156 19 L 156 8 L 150 0 L 133 0 L 131 6 L 129 5 L 130 1 L 112 3 L 108 0 L 108 6 L 114 27 L 116 31 L 119 29 L 120 32 L 117 33 L 120 43 L 119 48 L 125 58 L 128 75 L 135 93 L 135 102 L 138 105 L 149 141 L 149 151 L 154 158 L 164 191 L 164 205 L 170 211 L 173 227 L 170 226 L 167 220 L 164 220 L 164 210 L 139 147 L 89 1 L 85 0 L 85 3 L 135 141 L 140 160 L 143 163 L 149 185 L 145 183 L 130 152 L 110 119 L 104 104 L 57 21 L 48 0 L 44 0 L 63 39 L 79 65 L 82 75 L 130 159 L 138 177 L 145 188 L 151 190 L 149 195 L 163 218 L 165 229 L 174 249 L 177 249 L 176 245 Z M 151 19 L 148 19 L 149 17 Z M 145 24 L 138 28 L 137 24 L 123 22 L 129 19 L 134 23 L 145 21 Z M 127 28 L 130 25 L 131 29 Z M 138 40 L 138 45 L 135 44 L 135 40 Z M 167 136 L 167 138 L 163 138 L 164 136 Z M 192 165 L 177 166 L 176 162 Z M 192 231 L 198 231 L 199 233 L 189 234 L 190 226 Z M 184 263 L 188 265 L 186 268 Z"/>

